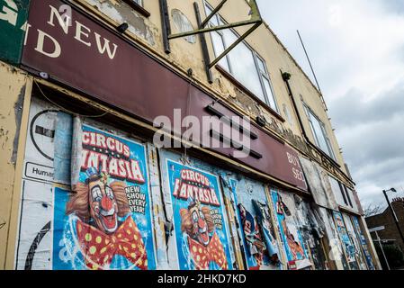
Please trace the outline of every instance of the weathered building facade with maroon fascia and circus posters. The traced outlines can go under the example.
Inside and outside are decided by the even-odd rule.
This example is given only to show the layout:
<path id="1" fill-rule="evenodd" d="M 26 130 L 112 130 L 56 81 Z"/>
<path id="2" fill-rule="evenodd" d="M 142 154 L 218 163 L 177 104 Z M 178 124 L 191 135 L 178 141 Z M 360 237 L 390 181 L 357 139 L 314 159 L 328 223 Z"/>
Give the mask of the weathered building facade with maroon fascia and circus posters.
<path id="1" fill-rule="evenodd" d="M 0 46 L 2 268 L 380 268 L 327 105 L 266 23 L 207 71 L 245 26 L 166 36 L 220 1 L 0 4 L 19 43 Z M 208 25 L 249 9 L 231 1 Z M 247 157 L 158 147 L 158 117 L 173 143 L 186 130 L 175 111 L 246 117 Z"/>

